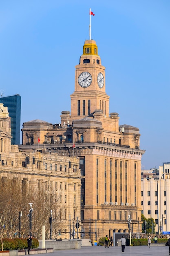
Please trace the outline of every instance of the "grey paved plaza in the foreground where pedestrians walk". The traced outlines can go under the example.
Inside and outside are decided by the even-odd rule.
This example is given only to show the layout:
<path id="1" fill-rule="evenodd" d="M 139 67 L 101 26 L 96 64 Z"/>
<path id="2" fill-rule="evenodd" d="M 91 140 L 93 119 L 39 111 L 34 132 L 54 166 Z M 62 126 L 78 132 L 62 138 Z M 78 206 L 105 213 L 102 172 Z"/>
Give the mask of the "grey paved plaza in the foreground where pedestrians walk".
<path id="1" fill-rule="evenodd" d="M 128 246 L 125 248 L 125 253 L 121 252 L 121 247 L 109 247 L 93 246 L 93 247 L 81 247 L 81 249 L 70 250 L 56 250 L 48 256 L 168 256 L 169 247 L 166 246 Z M 41 254 L 41 256 L 47 256 L 47 254 Z"/>

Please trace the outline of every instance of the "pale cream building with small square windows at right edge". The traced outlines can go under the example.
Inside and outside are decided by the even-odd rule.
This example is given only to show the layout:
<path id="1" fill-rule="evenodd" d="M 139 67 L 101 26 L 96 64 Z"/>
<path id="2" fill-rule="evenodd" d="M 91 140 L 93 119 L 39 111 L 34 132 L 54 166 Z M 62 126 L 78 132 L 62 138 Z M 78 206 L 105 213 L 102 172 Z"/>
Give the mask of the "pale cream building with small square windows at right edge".
<path id="1" fill-rule="evenodd" d="M 151 172 L 143 172 L 147 177 L 141 178 L 142 213 L 155 220 L 155 231 L 162 234 L 170 231 L 170 163 L 163 163 Z"/>

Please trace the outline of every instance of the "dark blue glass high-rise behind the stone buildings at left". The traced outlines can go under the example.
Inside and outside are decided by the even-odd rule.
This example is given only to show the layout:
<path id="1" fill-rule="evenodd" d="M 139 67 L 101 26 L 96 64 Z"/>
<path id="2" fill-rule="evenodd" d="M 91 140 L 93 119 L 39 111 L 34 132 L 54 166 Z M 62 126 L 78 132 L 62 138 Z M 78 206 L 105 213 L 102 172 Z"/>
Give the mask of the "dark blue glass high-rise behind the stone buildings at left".
<path id="1" fill-rule="evenodd" d="M 1 97 L 0 103 L 8 107 L 9 117 L 11 117 L 11 144 L 20 144 L 20 119 L 21 119 L 21 96 L 15 94 L 12 96 Z"/>

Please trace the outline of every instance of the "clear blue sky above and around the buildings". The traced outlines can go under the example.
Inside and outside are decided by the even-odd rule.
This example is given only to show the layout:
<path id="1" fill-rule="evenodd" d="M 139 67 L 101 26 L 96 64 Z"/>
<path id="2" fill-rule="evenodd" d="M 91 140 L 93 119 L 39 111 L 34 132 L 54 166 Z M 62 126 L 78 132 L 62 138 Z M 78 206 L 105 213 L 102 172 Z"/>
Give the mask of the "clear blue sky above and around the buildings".
<path id="1" fill-rule="evenodd" d="M 59 123 L 71 110 L 89 8 L 110 112 L 140 129 L 142 169 L 158 168 L 170 162 L 169 0 L 1 0 L 0 92 L 22 97 L 21 127 Z"/>

